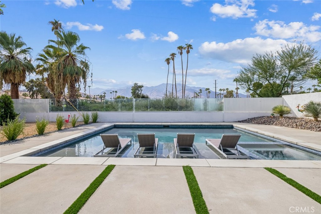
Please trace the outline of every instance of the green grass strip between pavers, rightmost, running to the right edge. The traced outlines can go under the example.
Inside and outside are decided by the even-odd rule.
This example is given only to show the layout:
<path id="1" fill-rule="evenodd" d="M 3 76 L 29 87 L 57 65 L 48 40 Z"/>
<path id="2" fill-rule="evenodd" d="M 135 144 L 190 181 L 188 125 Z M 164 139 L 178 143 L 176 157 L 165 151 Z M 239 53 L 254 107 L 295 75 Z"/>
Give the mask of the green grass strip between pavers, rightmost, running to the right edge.
<path id="1" fill-rule="evenodd" d="M 319 204 L 321 204 L 321 196 L 319 194 L 309 190 L 305 186 L 303 186 L 303 185 L 299 184 L 298 182 L 294 181 L 293 179 L 287 177 L 285 174 L 280 173 L 276 169 L 269 168 L 269 167 L 266 167 L 265 169 L 267 171 L 269 171 L 270 173 L 274 174 L 275 176 L 281 178 L 283 181 L 285 181 L 286 183 L 290 184 L 295 189 L 297 189 L 300 192 L 306 194 L 308 197 L 312 198 L 314 201 L 317 201 Z"/>

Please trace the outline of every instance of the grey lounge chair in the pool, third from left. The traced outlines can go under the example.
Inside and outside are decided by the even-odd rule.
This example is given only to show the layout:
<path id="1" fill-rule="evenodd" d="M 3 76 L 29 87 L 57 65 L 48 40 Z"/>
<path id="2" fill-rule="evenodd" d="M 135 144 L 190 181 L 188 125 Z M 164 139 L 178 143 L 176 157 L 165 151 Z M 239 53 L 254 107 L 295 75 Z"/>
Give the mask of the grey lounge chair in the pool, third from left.
<path id="1" fill-rule="evenodd" d="M 177 133 L 177 138 L 174 138 L 175 157 L 195 157 L 198 158 L 198 153 L 194 146 L 195 134 Z"/>

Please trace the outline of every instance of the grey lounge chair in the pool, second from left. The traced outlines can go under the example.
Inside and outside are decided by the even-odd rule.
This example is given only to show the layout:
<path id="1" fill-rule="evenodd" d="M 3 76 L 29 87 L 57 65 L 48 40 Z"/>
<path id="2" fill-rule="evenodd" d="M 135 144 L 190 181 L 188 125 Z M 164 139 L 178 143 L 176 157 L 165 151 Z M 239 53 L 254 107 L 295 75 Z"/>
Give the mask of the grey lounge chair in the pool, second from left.
<path id="1" fill-rule="evenodd" d="M 155 134 L 137 134 L 137 136 L 138 148 L 134 157 L 156 157 L 158 138 L 155 138 Z"/>

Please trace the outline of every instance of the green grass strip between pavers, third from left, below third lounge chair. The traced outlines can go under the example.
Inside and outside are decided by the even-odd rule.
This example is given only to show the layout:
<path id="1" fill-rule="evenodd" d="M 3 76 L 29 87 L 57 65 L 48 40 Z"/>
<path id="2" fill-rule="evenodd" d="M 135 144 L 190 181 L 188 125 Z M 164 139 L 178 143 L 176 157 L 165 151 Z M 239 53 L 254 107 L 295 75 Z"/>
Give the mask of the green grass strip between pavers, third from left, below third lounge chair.
<path id="1" fill-rule="evenodd" d="M 209 213 L 206 203 L 203 199 L 203 194 L 198 186 L 196 177 L 194 175 L 193 169 L 190 166 L 183 166 L 183 171 L 186 177 L 186 181 L 188 184 L 189 192 L 191 193 L 194 208 L 196 214 L 205 214 Z"/>

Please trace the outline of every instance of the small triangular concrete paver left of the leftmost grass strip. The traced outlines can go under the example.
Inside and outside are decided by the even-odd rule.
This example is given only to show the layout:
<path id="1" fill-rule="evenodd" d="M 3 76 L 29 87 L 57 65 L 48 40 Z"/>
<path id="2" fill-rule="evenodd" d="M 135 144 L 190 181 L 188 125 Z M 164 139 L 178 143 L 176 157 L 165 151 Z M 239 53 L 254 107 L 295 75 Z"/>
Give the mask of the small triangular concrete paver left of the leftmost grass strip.
<path id="1" fill-rule="evenodd" d="M 0 164 L 0 182 L 12 178 L 24 171 L 27 171 L 36 165 L 27 165 L 27 164 Z"/>

